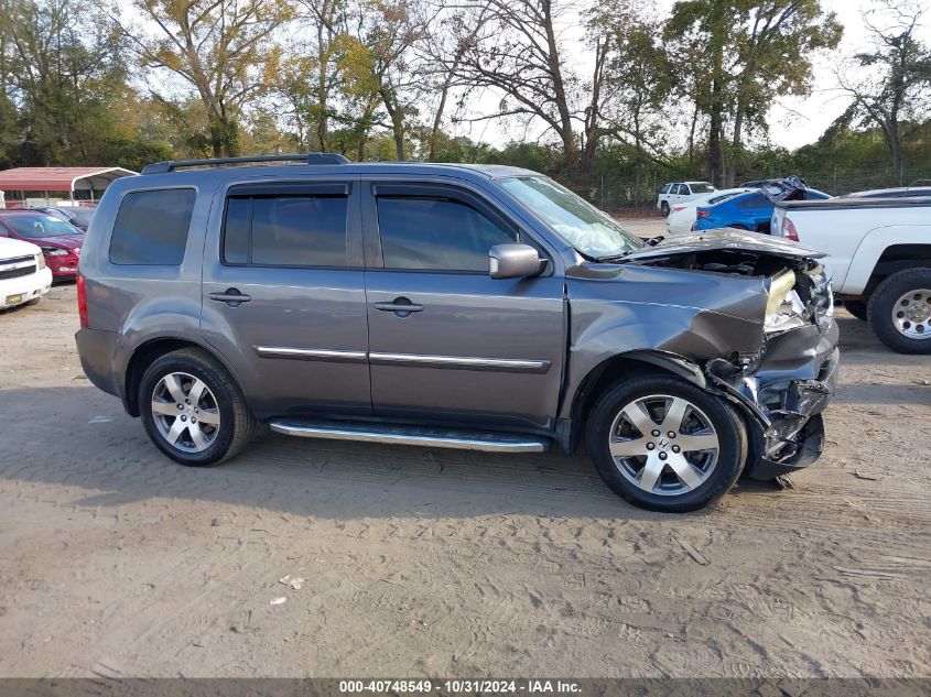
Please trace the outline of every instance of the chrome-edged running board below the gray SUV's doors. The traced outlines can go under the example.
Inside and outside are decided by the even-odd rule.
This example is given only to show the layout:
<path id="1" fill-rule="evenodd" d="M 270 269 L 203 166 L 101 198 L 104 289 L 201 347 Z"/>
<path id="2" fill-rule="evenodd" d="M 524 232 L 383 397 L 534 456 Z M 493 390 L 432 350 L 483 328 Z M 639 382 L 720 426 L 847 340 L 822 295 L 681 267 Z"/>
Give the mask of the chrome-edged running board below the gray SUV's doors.
<path id="1" fill-rule="evenodd" d="M 484 450 L 486 453 L 543 453 L 550 449 L 548 438 L 491 431 L 458 428 L 422 428 L 360 422 L 279 418 L 269 423 L 272 431 L 302 438 L 365 440 L 396 445 L 420 445 L 430 448 Z"/>

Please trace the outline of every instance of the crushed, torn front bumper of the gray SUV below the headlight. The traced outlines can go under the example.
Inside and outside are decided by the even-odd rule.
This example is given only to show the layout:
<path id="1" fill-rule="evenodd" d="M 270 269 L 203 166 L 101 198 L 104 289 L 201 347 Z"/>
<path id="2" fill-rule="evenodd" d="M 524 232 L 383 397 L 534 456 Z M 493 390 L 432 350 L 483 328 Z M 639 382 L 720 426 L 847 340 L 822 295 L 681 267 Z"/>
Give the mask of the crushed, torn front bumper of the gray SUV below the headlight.
<path id="1" fill-rule="evenodd" d="M 808 325 L 771 337 L 738 366 L 705 364 L 712 385 L 748 415 L 746 473 L 775 479 L 813 464 L 824 449 L 821 412 L 837 380 L 837 325 Z"/>

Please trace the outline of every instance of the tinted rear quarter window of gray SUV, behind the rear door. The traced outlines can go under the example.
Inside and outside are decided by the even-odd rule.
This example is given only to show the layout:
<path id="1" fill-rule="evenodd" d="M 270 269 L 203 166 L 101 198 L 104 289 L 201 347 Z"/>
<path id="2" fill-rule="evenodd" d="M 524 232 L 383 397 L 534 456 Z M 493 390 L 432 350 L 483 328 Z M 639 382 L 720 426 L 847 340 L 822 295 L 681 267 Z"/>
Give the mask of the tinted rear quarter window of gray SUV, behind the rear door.
<path id="1" fill-rule="evenodd" d="M 123 196 L 110 236 L 110 262 L 181 264 L 196 198 L 193 188 L 151 189 Z"/>

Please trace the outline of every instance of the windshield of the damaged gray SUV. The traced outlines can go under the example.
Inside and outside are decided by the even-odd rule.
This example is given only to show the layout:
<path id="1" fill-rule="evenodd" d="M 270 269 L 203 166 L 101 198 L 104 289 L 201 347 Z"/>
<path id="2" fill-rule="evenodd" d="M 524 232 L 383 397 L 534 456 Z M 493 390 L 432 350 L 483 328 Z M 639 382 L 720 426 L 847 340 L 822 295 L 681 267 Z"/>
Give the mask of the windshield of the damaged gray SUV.
<path id="1" fill-rule="evenodd" d="M 500 184 L 584 257 L 614 257 L 643 246 L 608 214 L 552 179 L 522 176 Z"/>

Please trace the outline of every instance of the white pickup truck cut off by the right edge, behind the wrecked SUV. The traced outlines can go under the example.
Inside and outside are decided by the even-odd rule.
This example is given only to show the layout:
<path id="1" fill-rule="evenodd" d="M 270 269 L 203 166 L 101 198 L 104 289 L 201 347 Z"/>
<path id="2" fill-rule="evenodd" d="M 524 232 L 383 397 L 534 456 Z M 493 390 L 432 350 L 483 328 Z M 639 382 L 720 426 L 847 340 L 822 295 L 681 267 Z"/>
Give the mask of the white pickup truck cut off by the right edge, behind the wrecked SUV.
<path id="1" fill-rule="evenodd" d="M 772 235 L 825 252 L 835 295 L 899 353 L 931 353 L 931 196 L 776 204 Z"/>

